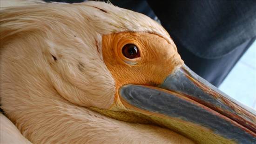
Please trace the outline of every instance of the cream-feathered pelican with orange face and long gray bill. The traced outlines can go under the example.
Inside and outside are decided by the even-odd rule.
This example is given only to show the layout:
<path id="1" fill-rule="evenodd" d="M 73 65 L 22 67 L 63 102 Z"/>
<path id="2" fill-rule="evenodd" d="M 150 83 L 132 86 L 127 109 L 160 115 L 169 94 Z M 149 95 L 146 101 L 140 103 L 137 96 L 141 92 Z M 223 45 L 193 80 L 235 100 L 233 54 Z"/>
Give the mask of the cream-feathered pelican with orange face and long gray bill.
<path id="1" fill-rule="evenodd" d="M 1 120 L 12 127 L 1 139 L 256 142 L 255 111 L 192 72 L 143 14 L 95 1 L 33 2 L 1 10 L 0 34 Z"/>

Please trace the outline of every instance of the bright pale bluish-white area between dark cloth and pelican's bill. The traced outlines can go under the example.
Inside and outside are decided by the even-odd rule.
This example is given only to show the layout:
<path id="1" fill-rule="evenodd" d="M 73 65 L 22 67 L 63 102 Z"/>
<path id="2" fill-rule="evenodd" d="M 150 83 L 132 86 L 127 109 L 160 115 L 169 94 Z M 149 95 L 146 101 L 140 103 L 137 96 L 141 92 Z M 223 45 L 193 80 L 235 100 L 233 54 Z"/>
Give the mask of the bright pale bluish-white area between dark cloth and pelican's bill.
<path id="1" fill-rule="evenodd" d="M 239 59 L 219 89 L 256 110 L 256 41 Z"/>

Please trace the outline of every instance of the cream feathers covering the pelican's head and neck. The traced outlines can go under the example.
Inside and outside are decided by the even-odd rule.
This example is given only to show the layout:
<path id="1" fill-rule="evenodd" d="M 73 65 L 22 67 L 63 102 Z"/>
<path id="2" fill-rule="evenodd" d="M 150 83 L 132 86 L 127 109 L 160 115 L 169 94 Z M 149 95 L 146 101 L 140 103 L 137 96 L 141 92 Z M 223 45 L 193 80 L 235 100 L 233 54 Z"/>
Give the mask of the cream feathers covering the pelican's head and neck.
<path id="1" fill-rule="evenodd" d="M 1 108 L 31 142 L 189 142 L 167 129 L 128 124 L 85 108 L 108 108 L 114 98 L 115 82 L 102 60 L 101 36 L 140 31 L 170 40 L 155 21 L 88 1 L 6 9 L 0 22 Z"/>

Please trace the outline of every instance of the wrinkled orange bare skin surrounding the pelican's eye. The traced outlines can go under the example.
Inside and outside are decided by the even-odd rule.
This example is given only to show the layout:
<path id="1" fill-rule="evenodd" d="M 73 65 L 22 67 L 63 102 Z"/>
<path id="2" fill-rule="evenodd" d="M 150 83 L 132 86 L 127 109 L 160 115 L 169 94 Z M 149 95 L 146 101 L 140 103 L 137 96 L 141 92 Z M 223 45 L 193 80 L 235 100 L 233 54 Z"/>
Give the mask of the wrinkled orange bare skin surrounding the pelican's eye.
<path id="1" fill-rule="evenodd" d="M 122 47 L 134 44 L 140 57 L 128 59 Z M 179 65 L 183 64 L 175 45 L 152 33 L 114 33 L 102 37 L 105 64 L 115 79 L 116 90 L 122 85 L 160 85 Z M 118 92 L 116 92 L 118 94 Z"/>

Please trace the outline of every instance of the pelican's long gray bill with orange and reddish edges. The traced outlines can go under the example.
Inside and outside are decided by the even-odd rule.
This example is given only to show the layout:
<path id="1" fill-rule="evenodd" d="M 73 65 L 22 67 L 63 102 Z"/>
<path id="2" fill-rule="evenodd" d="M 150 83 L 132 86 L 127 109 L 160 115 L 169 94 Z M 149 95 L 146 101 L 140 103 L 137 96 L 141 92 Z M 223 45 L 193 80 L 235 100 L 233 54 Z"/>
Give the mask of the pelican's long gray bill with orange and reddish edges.
<path id="1" fill-rule="evenodd" d="M 220 92 L 186 65 L 177 68 L 157 87 L 124 85 L 119 89 L 119 97 L 128 110 L 165 119 L 159 121 L 175 119 L 235 143 L 256 143 L 256 112 Z M 189 126 L 176 126 L 172 122 L 161 125 L 197 137 L 184 132 Z"/>

